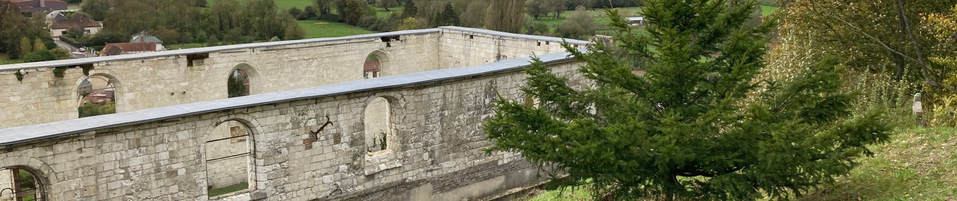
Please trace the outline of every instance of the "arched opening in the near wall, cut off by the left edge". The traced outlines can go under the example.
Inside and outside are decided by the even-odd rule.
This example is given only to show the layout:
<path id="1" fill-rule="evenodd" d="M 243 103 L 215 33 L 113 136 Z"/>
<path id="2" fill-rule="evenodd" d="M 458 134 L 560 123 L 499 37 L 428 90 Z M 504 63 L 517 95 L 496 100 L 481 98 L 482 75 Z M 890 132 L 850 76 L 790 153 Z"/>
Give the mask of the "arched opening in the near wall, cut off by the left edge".
<path id="1" fill-rule="evenodd" d="M 17 169 L 0 169 L 0 200 L 7 201 L 42 201 L 44 196 L 43 185 L 33 172 Z"/>

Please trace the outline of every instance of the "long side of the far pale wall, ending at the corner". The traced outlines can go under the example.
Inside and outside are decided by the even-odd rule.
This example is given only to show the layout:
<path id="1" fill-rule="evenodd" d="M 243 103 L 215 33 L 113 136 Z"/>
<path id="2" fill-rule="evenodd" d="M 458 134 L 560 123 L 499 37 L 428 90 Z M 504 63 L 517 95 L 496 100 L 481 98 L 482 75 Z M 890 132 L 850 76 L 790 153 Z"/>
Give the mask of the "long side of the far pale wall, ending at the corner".
<path id="1" fill-rule="evenodd" d="M 402 37 L 388 45 L 365 38 L 217 51 L 193 67 L 185 55 L 101 62 L 89 73 L 114 79 L 122 112 L 227 98 L 227 80 L 237 68 L 250 73 L 253 94 L 362 79 L 363 63 L 376 50 L 402 58 L 390 59 L 386 75 L 438 69 L 438 34 Z M 26 71 L 22 82 L 15 70 L 0 71 L 0 110 L 10 114 L 0 116 L 0 128 L 77 118 L 77 86 L 86 77 L 81 69 L 68 69 L 62 78 L 53 68 Z"/>

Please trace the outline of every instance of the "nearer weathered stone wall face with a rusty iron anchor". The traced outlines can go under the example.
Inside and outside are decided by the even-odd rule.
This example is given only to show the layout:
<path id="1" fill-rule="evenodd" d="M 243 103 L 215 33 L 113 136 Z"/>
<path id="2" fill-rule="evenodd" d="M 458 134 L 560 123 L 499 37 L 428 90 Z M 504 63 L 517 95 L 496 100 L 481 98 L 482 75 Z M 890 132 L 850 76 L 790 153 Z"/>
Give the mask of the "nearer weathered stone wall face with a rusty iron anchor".
<path id="1" fill-rule="evenodd" d="M 551 65 L 582 85 L 578 64 Z M 496 93 L 523 99 L 524 77 L 509 70 L 86 131 L 0 150 L 0 167 L 33 171 L 53 201 L 209 200 L 207 141 L 236 120 L 253 132 L 253 188 L 216 200 L 476 199 L 537 179 L 520 155 L 480 150 L 491 145 L 482 120 Z M 377 97 L 389 100 L 394 142 L 368 153 L 364 115 Z M 332 124 L 313 135 L 325 116 Z"/>

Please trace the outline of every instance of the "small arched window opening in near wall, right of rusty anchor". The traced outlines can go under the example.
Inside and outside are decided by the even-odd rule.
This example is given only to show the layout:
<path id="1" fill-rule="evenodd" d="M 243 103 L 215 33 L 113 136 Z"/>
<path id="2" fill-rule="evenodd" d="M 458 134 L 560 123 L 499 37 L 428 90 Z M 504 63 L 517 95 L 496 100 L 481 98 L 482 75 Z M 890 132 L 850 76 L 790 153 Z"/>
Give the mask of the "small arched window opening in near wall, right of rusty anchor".
<path id="1" fill-rule="evenodd" d="M 366 151 L 377 152 L 389 150 L 391 141 L 389 100 L 377 97 L 368 103 L 363 119 L 366 125 Z"/>

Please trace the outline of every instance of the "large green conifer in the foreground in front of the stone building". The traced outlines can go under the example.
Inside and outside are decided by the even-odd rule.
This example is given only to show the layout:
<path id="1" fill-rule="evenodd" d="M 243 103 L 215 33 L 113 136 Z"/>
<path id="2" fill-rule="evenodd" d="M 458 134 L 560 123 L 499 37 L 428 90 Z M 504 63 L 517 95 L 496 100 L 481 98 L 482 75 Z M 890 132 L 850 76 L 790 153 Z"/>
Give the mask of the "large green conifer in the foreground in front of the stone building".
<path id="1" fill-rule="evenodd" d="M 889 138 L 881 112 L 852 114 L 836 59 L 754 80 L 773 23 L 744 26 L 753 2 L 644 3 L 650 34 L 609 10 L 616 48 L 565 44 L 593 87 L 572 88 L 537 59 L 526 68 L 530 98 L 496 103 L 486 151 L 519 152 L 605 200 L 754 200 L 834 182 Z"/>

